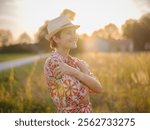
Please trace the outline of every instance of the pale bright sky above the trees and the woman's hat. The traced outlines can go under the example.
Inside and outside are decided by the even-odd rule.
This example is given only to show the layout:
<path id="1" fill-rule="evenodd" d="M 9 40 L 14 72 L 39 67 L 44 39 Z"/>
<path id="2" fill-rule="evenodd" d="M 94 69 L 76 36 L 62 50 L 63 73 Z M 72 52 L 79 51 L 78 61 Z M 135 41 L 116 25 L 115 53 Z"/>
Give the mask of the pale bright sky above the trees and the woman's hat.
<path id="1" fill-rule="evenodd" d="M 15 38 L 23 32 L 33 37 L 66 8 L 76 13 L 78 33 L 91 35 L 109 23 L 120 28 L 127 19 L 139 19 L 150 11 L 150 0 L 0 0 L 0 29 L 9 29 Z"/>

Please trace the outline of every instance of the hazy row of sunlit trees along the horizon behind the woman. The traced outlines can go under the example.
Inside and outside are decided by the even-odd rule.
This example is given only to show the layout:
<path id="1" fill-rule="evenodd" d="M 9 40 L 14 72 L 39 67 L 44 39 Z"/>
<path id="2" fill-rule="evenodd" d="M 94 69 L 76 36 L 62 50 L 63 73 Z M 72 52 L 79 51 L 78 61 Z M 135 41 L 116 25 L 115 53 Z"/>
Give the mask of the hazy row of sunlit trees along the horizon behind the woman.
<path id="1" fill-rule="evenodd" d="M 73 20 L 75 17 L 75 12 L 65 9 L 60 15 L 66 15 L 70 20 Z M 35 33 L 35 43 L 36 45 L 28 45 L 30 46 L 30 50 L 32 51 L 49 51 L 49 42 L 45 39 L 45 35 L 47 34 L 47 21 L 44 22 Z M 86 35 L 86 34 L 85 34 Z M 85 35 L 79 36 L 79 42 L 84 43 Z M 131 39 L 134 43 L 134 51 L 144 51 L 146 49 L 150 50 L 150 13 L 144 14 L 139 19 L 128 19 L 121 27 L 121 32 L 117 28 L 117 26 L 113 23 L 106 25 L 104 28 L 100 28 L 93 32 L 90 38 L 94 39 L 95 37 L 100 37 L 106 40 L 111 39 Z M 16 45 L 14 45 L 14 43 Z M 6 50 L 9 48 L 8 46 L 15 46 L 18 48 L 28 48 L 26 44 L 31 43 L 31 38 L 27 33 L 22 33 L 19 38 L 14 42 L 13 35 L 9 30 L 0 29 L 0 52 L 2 50 Z M 17 45 L 19 44 L 19 45 Z M 80 47 L 76 51 L 83 51 L 84 47 L 82 44 L 78 44 Z M 26 47 L 25 47 L 26 46 Z M 10 49 L 11 49 L 10 47 Z M 9 49 L 8 49 L 9 50 Z M 7 51 L 8 51 L 7 50 Z M 23 50 L 23 49 L 22 49 Z M 17 50 L 15 50 L 17 51 Z"/>

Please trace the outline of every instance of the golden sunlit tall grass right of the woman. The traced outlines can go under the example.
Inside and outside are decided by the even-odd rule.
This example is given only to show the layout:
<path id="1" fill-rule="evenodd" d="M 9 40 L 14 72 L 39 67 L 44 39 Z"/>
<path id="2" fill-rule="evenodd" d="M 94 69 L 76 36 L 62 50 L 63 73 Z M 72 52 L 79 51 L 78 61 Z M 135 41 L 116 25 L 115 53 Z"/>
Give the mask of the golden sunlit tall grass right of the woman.
<path id="1" fill-rule="evenodd" d="M 150 53 L 92 53 L 82 58 L 103 85 L 95 112 L 150 112 Z"/>

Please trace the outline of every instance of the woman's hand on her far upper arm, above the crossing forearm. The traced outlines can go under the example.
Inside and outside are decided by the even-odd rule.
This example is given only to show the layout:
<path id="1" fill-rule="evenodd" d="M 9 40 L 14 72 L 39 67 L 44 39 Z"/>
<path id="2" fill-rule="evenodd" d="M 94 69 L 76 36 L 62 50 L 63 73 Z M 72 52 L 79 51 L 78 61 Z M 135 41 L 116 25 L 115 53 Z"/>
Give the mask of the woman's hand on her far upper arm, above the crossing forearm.
<path id="1" fill-rule="evenodd" d="M 77 65 L 80 68 L 81 72 L 85 73 L 85 74 L 89 74 L 89 66 L 88 64 L 83 61 L 83 60 L 77 60 Z"/>

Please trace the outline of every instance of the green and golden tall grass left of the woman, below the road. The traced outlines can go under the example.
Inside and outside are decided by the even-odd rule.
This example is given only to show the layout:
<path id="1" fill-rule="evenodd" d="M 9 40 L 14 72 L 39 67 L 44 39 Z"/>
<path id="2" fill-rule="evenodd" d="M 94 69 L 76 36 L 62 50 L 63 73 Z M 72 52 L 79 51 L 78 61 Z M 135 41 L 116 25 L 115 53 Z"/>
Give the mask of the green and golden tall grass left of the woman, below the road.
<path id="1" fill-rule="evenodd" d="M 43 61 L 0 72 L 0 112 L 55 111 L 43 75 Z"/>

